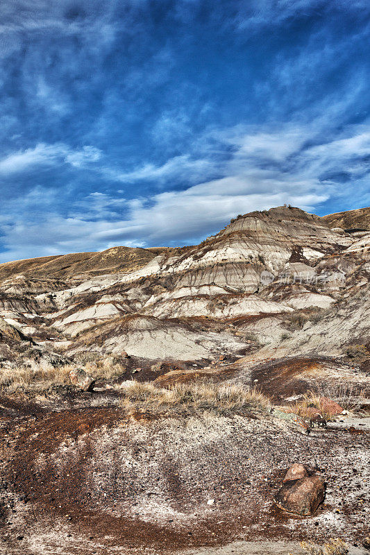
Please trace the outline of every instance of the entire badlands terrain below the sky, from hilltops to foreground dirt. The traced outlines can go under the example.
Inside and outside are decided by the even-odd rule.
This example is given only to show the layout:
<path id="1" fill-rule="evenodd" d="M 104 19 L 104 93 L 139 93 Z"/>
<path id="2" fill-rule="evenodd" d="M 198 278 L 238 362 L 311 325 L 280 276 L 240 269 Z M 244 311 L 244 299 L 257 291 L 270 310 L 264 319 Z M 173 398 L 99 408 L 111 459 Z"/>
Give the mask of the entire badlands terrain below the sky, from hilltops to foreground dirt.
<path id="1" fill-rule="evenodd" d="M 369 280 L 369 208 L 1 264 L 0 553 L 369 552 Z"/>

